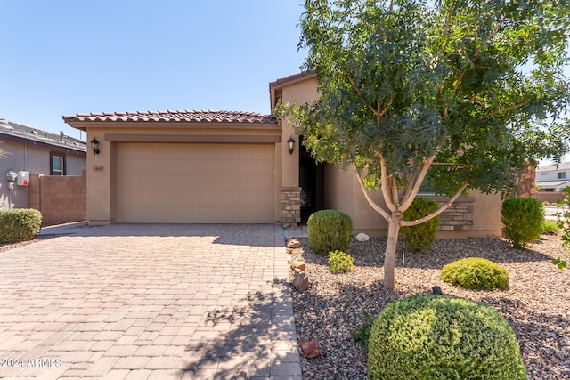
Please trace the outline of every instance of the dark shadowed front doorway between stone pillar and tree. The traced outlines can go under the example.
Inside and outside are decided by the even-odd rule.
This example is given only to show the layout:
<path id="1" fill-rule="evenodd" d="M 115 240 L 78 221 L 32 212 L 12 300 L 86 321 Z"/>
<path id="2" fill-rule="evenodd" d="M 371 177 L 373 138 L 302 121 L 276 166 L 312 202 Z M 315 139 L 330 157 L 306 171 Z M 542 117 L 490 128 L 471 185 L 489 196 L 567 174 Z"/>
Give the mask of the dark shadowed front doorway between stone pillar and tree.
<path id="1" fill-rule="evenodd" d="M 306 222 L 315 211 L 324 208 L 324 166 L 311 157 L 300 136 L 299 186 L 301 187 L 301 219 Z"/>

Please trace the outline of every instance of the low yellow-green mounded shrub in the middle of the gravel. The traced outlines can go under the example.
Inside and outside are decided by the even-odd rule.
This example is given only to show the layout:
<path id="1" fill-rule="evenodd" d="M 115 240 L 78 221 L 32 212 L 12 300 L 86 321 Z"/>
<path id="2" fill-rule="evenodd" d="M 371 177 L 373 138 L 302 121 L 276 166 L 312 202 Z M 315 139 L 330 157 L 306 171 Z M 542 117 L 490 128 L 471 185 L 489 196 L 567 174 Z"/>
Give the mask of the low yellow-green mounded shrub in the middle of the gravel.
<path id="1" fill-rule="evenodd" d="M 498 263 L 479 257 L 468 257 L 444 265 L 440 277 L 457 287 L 477 290 L 506 289 L 509 272 Z"/>

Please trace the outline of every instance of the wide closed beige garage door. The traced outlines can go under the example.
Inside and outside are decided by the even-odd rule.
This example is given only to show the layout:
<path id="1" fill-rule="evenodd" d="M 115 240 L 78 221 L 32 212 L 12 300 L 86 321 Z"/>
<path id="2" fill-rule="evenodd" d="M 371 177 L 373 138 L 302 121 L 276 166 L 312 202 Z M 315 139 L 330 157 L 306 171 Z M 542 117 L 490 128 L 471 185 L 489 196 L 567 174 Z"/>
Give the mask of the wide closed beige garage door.
<path id="1" fill-rule="evenodd" d="M 118 222 L 274 222 L 274 149 L 118 143 Z"/>

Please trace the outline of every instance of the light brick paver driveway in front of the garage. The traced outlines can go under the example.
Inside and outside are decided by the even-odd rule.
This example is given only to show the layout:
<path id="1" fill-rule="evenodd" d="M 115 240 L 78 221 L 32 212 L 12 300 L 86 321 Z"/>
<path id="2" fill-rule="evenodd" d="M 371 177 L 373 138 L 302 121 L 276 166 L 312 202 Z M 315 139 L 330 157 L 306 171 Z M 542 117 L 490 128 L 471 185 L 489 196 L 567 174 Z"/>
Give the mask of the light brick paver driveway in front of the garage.
<path id="1" fill-rule="evenodd" d="M 76 231 L 0 253 L 0 378 L 301 378 L 280 227 Z"/>

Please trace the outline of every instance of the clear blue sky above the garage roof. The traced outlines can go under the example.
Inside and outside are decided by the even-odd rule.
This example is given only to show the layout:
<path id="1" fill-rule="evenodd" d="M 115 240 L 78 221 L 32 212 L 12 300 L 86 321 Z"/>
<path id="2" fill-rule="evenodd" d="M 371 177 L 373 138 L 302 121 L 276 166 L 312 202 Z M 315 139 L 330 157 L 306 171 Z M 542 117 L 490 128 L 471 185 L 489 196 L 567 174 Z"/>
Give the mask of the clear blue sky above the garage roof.
<path id="1" fill-rule="evenodd" d="M 300 71 L 300 0 L 0 0 L 0 117 L 79 137 L 62 115 L 267 114 Z M 85 139 L 85 134 L 82 136 Z"/>

